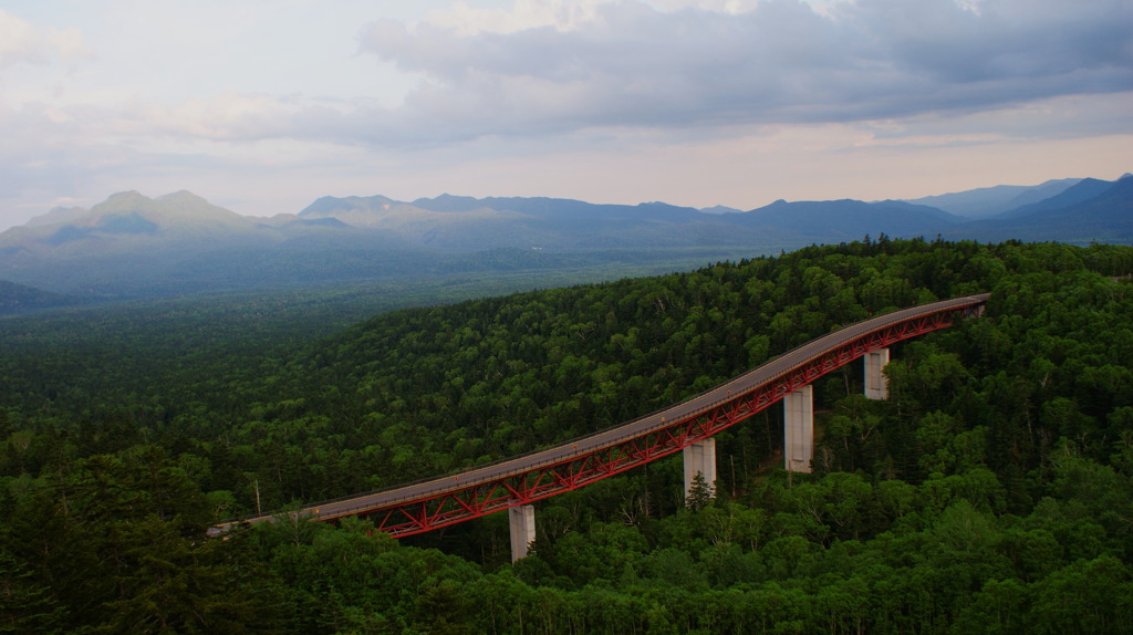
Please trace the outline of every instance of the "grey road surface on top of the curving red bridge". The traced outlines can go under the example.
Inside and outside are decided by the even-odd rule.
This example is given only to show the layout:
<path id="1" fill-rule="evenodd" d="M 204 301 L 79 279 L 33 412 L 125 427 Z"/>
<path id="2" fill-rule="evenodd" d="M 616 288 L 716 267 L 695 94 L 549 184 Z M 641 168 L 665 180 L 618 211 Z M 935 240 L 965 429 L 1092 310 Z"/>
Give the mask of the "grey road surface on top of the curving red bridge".
<path id="1" fill-rule="evenodd" d="M 877 316 L 828 335 L 817 337 L 802 344 L 766 363 L 759 366 L 743 375 L 740 375 L 715 388 L 693 396 L 687 401 L 668 406 L 667 409 L 647 414 L 595 432 L 578 439 L 572 439 L 543 450 L 522 454 L 511 458 L 505 458 L 496 463 L 489 463 L 479 467 L 472 467 L 462 472 L 453 472 L 424 481 L 394 486 L 384 490 L 369 494 L 361 494 L 346 498 L 316 503 L 301 508 L 298 514 L 312 518 L 330 521 L 343 516 L 366 515 L 389 507 L 404 505 L 407 503 L 427 500 L 450 492 L 467 490 L 477 484 L 486 484 L 509 477 L 521 475 L 535 469 L 548 465 L 565 463 L 571 460 L 594 454 L 604 448 L 615 446 L 628 439 L 644 437 L 650 432 L 659 431 L 674 421 L 688 420 L 698 414 L 712 411 L 733 400 L 738 394 L 747 393 L 765 384 L 790 374 L 794 369 L 806 366 L 808 362 L 820 358 L 823 354 L 838 349 L 840 346 L 853 342 L 859 337 L 870 333 L 883 331 L 889 326 L 901 324 L 918 317 L 943 314 L 955 310 L 963 310 L 987 302 L 989 293 L 942 300 L 908 309 L 901 309 L 881 316 Z M 270 521 L 273 514 L 262 514 L 235 518 L 221 523 L 208 530 L 210 535 L 220 535 L 241 522 L 256 523 Z"/>

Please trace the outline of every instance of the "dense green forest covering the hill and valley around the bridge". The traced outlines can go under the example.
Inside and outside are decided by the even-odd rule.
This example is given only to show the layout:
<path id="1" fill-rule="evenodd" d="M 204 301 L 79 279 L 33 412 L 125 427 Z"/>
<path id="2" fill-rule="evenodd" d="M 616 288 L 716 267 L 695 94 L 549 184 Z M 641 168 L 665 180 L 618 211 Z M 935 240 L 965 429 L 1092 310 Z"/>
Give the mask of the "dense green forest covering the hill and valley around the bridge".
<path id="1" fill-rule="evenodd" d="M 1131 273 L 1131 247 L 881 237 L 357 320 L 0 318 L 0 633 L 1128 633 Z M 985 291 L 894 347 L 888 401 L 860 362 L 816 383 L 812 474 L 773 407 L 717 437 L 715 498 L 661 460 L 537 504 L 516 564 L 506 514 L 393 540 L 284 513 Z"/>

